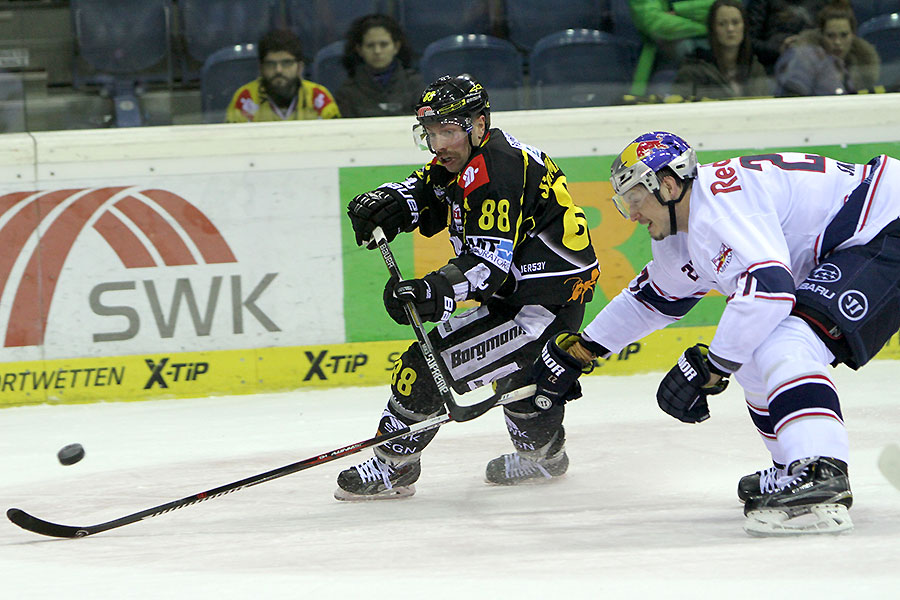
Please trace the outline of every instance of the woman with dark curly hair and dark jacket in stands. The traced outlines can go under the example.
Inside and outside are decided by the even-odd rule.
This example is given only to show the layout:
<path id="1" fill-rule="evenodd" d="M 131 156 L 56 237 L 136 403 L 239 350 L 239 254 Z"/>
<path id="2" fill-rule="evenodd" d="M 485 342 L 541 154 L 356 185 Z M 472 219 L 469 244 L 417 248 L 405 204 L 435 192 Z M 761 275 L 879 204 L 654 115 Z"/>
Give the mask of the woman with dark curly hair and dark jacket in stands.
<path id="1" fill-rule="evenodd" d="M 387 15 L 360 17 L 350 26 L 342 62 L 349 78 L 337 91 L 345 117 L 409 115 L 425 88 L 410 68 L 412 51 Z"/>

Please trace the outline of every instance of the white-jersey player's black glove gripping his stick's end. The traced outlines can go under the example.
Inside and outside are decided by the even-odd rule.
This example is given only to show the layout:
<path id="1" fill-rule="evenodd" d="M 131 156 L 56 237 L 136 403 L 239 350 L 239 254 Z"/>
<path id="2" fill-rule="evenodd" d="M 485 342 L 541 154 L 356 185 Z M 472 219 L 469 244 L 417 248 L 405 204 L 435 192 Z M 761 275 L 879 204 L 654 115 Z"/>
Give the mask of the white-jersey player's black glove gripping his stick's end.
<path id="1" fill-rule="evenodd" d="M 593 369 L 593 363 L 585 365 L 569 354 L 568 349 L 581 338 L 575 333 L 561 333 L 550 339 L 534 361 L 531 376 L 537 385 L 534 405 L 540 410 L 550 410 L 558 404 L 581 398 L 578 376 Z"/>

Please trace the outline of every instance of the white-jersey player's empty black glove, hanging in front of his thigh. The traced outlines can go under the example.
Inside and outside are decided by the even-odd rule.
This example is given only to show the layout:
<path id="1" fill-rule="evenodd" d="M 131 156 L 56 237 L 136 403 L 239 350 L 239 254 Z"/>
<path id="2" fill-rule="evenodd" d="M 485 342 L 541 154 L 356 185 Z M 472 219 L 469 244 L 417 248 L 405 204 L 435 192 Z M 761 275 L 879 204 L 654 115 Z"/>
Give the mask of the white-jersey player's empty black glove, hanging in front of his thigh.
<path id="1" fill-rule="evenodd" d="M 705 387 L 710 375 L 707 354 L 709 347 L 706 344 L 685 350 L 656 391 L 659 407 L 683 423 L 700 423 L 708 419 L 706 397 L 721 394 L 728 387 L 728 379 L 724 377 Z"/>

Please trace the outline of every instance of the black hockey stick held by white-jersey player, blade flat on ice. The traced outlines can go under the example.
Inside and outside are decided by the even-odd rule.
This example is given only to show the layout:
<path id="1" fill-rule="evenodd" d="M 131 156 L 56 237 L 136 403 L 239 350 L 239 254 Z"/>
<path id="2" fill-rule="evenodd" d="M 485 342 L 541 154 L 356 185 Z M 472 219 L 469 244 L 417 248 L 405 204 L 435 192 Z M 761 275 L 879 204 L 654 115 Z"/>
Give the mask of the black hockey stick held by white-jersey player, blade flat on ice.
<path id="1" fill-rule="evenodd" d="M 510 402 L 515 402 L 516 400 L 522 400 L 524 398 L 533 396 L 534 391 L 535 387 L 533 385 L 527 385 L 525 387 L 506 392 L 505 394 L 495 394 L 488 400 L 490 400 L 491 406 L 509 404 Z M 343 448 L 338 448 L 336 450 L 332 450 L 331 452 L 326 452 L 325 454 L 319 454 L 318 456 L 313 456 L 311 458 L 307 458 L 306 460 L 301 460 L 299 462 L 285 465 L 271 471 L 266 471 L 265 473 L 260 473 L 259 475 L 253 475 L 252 477 L 247 477 L 245 479 L 241 479 L 240 481 L 226 483 L 225 485 L 221 485 L 217 488 L 206 490 L 205 492 L 200 492 L 199 494 L 194 494 L 192 496 L 187 496 L 186 498 L 182 498 L 181 500 L 173 500 L 172 502 L 160 504 L 159 506 L 154 506 L 153 508 L 148 508 L 147 510 L 142 510 L 126 517 L 120 517 L 112 521 L 107 521 L 106 523 L 100 523 L 99 525 L 90 525 L 87 527 L 60 525 L 58 523 L 51 523 L 49 521 L 44 521 L 43 519 L 33 517 L 24 510 L 18 508 L 10 508 L 9 510 L 7 510 L 6 516 L 9 517 L 10 521 L 15 523 L 22 529 L 27 529 L 28 531 L 38 533 L 40 535 L 60 538 L 86 537 L 89 535 L 94 535 L 95 533 L 122 527 L 123 525 L 130 525 L 131 523 L 143 521 L 144 519 L 149 519 L 151 517 L 157 517 L 167 512 L 171 512 L 179 508 L 184 508 L 185 506 L 191 506 L 192 504 L 203 502 L 204 500 L 212 500 L 213 498 L 218 498 L 220 496 L 224 496 L 226 494 L 230 494 L 247 487 L 259 485 L 260 483 L 265 483 L 266 481 L 278 479 L 279 477 L 284 477 L 285 475 L 290 475 L 291 473 L 303 471 L 305 469 L 309 469 L 310 467 L 315 467 L 317 465 L 331 462 L 333 460 L 337 460 L 351 454 L 356 454 L 357 452 L 365 450 L 366 448 L 378 446 L 379 444 L 389 442 L 399 437 L 421 433 L 423 431 L 434 429 L 435 427 L 440 427 L 441 425 L 444 425 L 452 420 L 453 419 L 450 417 L 450 415 L 438 415 L 436 417 L 426 419 L 425 421 L 421 421 L 420 423 L 415 423 L 411 427 L 404 427 L 403 429 L 399 429 L 397 431 L 376 435 L 375 437 L 369 438 L 362 442 L 356 442 L 355 444 L 350 444 L 349 446 L 344 446 Z"/>

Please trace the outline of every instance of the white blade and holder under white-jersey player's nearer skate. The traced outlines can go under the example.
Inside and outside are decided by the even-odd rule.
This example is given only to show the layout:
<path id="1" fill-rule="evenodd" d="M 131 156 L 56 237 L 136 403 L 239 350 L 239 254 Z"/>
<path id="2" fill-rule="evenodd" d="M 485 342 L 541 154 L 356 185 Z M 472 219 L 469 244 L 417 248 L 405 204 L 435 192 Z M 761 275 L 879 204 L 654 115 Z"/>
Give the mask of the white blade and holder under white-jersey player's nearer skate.
<path id="1" fill-rule="evenodd" d="M 744 531 L 755 537 L 839 534 L 851 529 L 853 521 L 843 504 L 816 504 L 794 517 L 781 510 L 754 510 L 744 521 Z"/>

